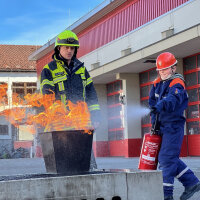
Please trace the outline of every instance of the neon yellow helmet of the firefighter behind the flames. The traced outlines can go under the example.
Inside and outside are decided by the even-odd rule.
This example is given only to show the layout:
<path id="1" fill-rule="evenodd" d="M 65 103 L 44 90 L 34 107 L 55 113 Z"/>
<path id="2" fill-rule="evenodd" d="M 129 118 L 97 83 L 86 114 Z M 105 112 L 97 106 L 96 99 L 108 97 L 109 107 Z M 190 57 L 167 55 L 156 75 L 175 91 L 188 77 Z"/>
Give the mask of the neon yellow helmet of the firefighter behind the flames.
<path id="1" fill-rule="evenodd" d="M 73 46 L 78 48 L 80 45 L 77 35 L 70 30 L 65 30 L 56 37 L 55 48 L 57 46 Z"/>

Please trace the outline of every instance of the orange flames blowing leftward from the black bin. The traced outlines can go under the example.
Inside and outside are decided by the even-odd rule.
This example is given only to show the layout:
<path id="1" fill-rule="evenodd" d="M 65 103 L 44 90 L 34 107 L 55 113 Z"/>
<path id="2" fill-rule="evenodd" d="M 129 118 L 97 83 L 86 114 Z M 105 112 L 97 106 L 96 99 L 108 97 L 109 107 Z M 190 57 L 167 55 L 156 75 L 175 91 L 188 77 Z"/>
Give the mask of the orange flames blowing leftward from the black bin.
<path id="1" fill-rule="evenodd" d="M 0 85 L 0 106 L 4 105 L 7 96 L 7 87 Z M 27 94 L 22 99 L 18 94 L 12 95 L 11 109 L 4 109 L 0 116 L 5 118 L 14 126 L 20 124 L 34 125 L 44 129 L 44 132 L 61 130 L 91 130 L 90 113 L 85 102 L 77 104 L 71 101 L 63 104 L 55 99 L 55 94 Z"/>

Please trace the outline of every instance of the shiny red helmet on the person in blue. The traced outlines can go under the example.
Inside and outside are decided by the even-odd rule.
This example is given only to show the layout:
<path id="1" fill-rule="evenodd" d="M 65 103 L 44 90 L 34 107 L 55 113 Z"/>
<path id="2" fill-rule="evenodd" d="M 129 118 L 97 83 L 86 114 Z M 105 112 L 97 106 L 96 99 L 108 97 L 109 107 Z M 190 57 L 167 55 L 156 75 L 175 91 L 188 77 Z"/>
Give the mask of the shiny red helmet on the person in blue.
<path id="1" fill-rule="evenodd" d="M 177 63 L 176 58 L 172 53 L 164 52 L 161 53 L 156 59 L 157 71 L 170 68 Z"/>

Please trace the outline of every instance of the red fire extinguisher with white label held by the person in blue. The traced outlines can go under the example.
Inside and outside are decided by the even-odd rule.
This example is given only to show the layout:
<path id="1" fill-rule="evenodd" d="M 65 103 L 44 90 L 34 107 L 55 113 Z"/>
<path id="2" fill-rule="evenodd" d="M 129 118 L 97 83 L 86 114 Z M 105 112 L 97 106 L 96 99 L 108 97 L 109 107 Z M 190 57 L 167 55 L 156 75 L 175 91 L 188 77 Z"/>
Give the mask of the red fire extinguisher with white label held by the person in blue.
<path id="1" fill-rule="evenodd" d="M 144 135 L 138 169 L 156 170 L 162 138 L 158 135 L 158 114 L 151 133 Z"/>

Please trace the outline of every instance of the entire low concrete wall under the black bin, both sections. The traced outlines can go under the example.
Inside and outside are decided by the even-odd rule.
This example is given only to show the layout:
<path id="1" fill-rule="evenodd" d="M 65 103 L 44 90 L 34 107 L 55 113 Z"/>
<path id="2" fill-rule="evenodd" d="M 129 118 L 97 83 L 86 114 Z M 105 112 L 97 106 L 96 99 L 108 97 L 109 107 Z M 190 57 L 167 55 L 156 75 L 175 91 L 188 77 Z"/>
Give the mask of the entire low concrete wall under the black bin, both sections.
<path id="1" fill-rule="evenodd" d="M 106 172 L 0 181 L 0 199 L 162 200 L 161 177 L 157 171 Z"/>

